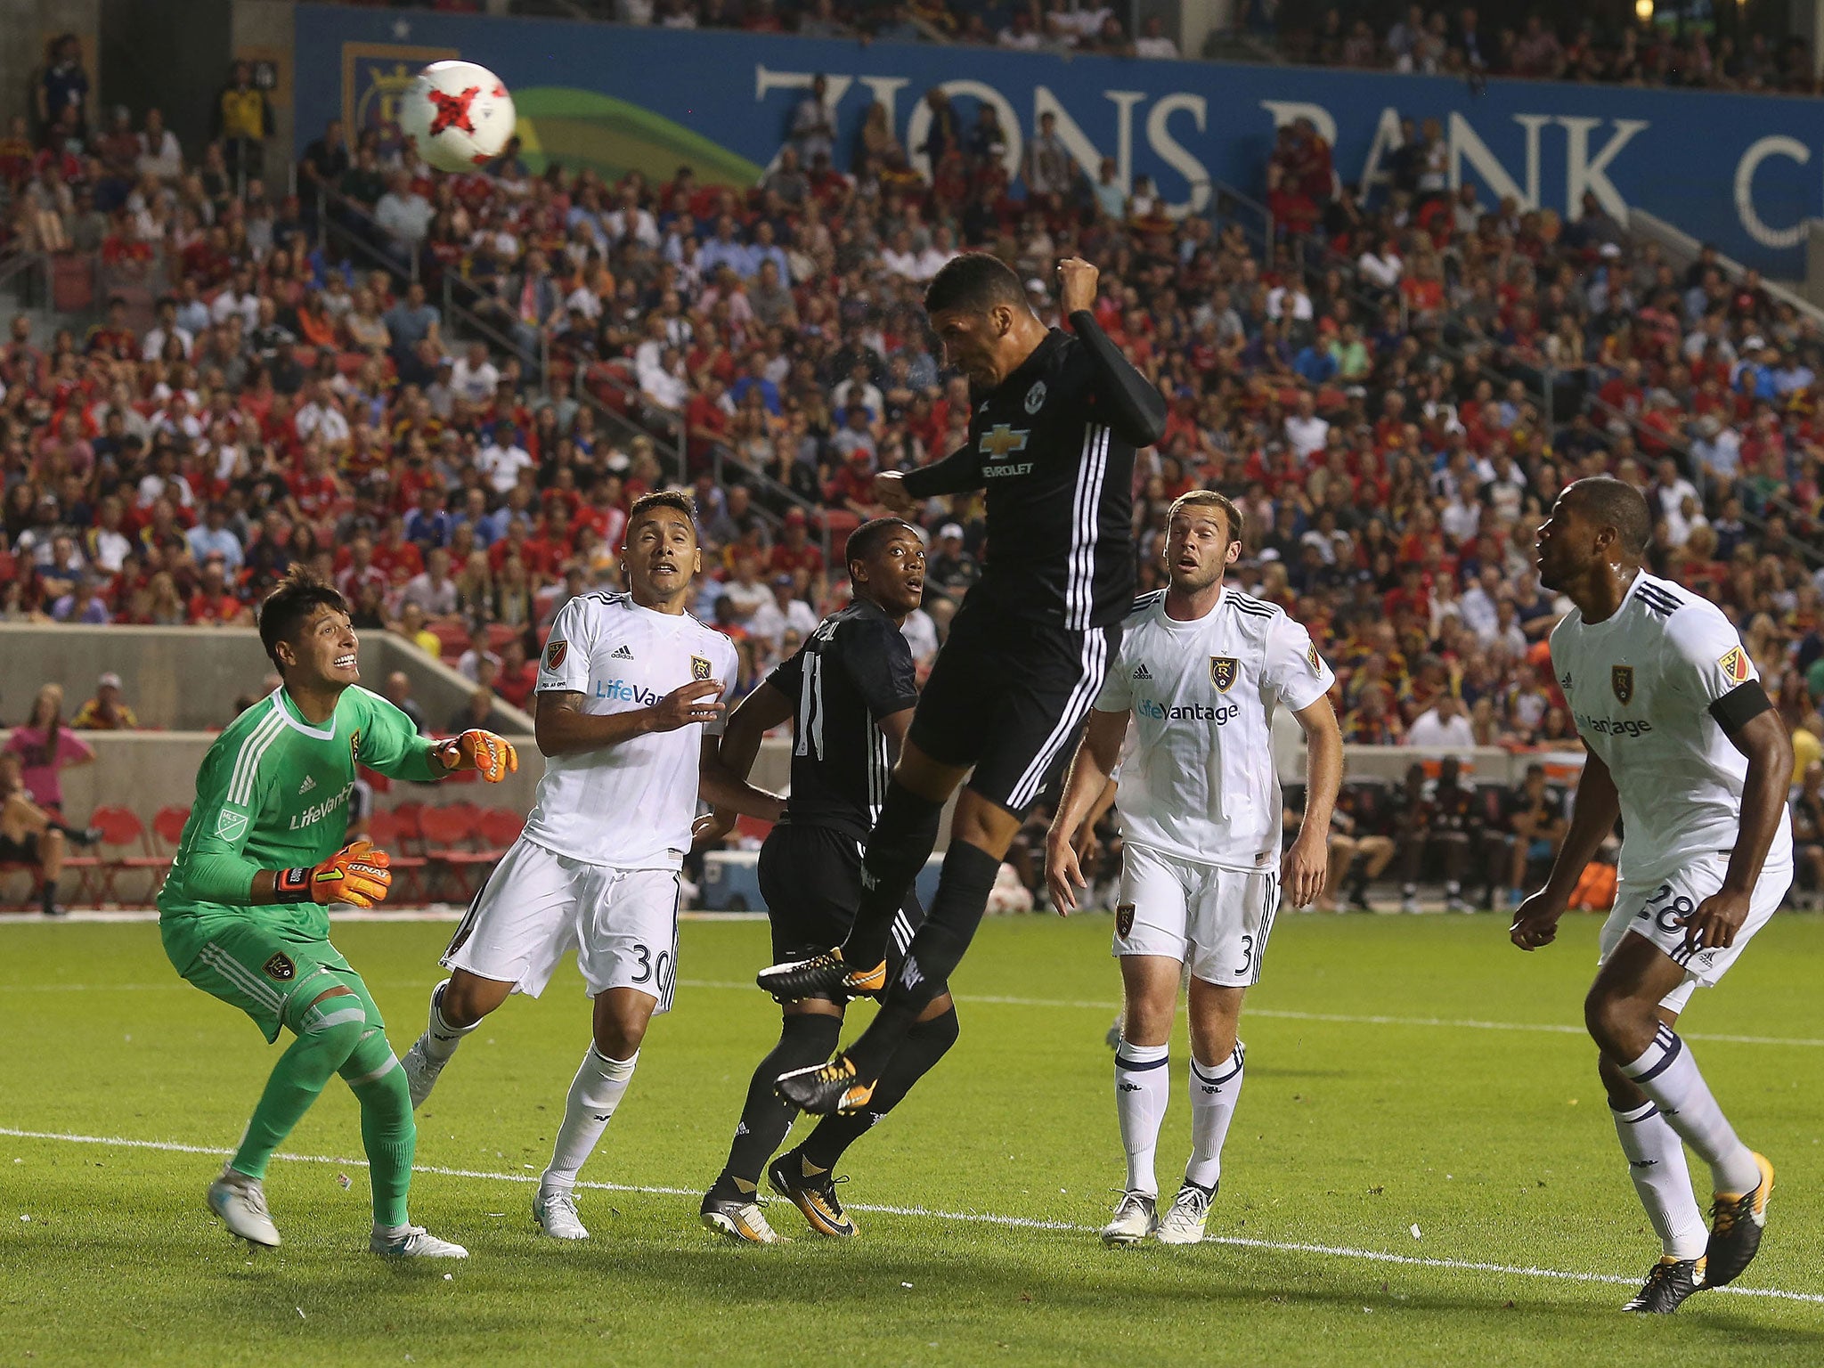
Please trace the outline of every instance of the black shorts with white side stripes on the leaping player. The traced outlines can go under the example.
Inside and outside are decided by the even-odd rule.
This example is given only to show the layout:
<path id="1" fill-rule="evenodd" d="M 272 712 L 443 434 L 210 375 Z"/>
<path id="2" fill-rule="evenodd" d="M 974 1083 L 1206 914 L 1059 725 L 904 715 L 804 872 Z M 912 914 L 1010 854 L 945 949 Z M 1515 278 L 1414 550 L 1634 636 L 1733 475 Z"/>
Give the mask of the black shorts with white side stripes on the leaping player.
<path id="1" fill-rule="evenodd" d="M 910 741 L 1025 815 L 1065 761 L 1122 644 L 1122 626 L 1067 631 L 965 600 L 912 713 Z"/>

